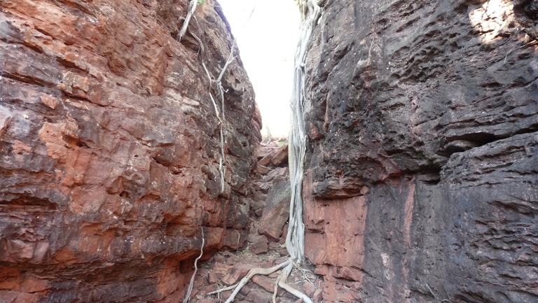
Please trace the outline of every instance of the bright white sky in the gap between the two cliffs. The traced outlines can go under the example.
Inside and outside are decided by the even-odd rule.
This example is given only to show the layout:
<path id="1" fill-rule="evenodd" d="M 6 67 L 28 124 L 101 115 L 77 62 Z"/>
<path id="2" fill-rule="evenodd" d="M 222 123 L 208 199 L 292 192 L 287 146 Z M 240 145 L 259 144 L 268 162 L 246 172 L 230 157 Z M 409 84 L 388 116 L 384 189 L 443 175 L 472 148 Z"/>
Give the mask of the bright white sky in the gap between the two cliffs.
<path id="1" fill-rule="evenodd" d="M 298 41 L 299 12 L 294 0 L 218 0 L 240 56 L 254 85 L 263 119 L 273 138 L 288 136 L 289 99 L 294 54 Z M 254 13 L 244 26 L 254 8 Z"/>

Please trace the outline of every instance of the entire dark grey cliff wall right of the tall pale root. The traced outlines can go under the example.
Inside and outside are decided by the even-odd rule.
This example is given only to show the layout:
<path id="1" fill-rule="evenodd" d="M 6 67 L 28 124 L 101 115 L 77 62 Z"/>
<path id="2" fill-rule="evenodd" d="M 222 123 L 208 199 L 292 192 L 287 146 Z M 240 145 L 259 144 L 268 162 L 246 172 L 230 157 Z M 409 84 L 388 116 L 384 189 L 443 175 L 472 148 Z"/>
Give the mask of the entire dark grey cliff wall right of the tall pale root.
<path id="1" fill-rule="evenodd" d="M 322 2 L 303 187 L 324 302 L 538 302 L 537 2 Z"/>

